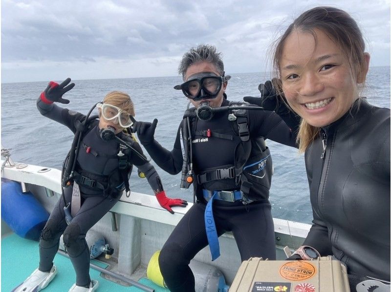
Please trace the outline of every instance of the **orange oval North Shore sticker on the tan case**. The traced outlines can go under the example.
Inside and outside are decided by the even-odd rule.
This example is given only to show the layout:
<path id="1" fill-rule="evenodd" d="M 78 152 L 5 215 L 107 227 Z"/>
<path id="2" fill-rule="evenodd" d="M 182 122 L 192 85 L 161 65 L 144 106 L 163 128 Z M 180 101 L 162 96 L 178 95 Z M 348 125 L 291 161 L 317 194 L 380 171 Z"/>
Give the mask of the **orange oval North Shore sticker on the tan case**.
<path id="1" fill-rule="evenodd" d="M 315 267 L 308 261 L 287 262 L 280 268 L 280 275 L 290 281 L 303 281 L 315 274 Z"/>

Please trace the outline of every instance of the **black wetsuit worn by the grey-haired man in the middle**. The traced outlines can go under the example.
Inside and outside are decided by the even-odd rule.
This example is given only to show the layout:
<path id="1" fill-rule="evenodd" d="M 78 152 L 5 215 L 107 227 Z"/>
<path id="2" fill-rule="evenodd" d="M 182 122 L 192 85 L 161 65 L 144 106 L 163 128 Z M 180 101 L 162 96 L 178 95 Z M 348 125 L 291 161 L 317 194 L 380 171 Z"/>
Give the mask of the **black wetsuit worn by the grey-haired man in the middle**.
<path id="1" fill-rule="evenodd" d="M 228 104 L 224 99 L 222 106 Z M 196 122 L 195 132 L 210 129 L 212 133 L 217 131 L 233 135 L 234 139 L 221 139 L 213 135 L 205 138 L 205 136 L 195 135 L 193 138 L 195 174 L 211 168 L 230 167 L 234 164 L 235 148 L 240 143 L 240 138 L 233 131 L 234 122 L 228 121 L 228 113 L 228 111 L 218 112 L 211 121 Z M 248 123 L 250 138 L 262 136 L 285 145 L 295 146 L 295 136 L 272 111 L 249 110 Z M 180 128 L 181 126 L 172 151 L 163 148 L 155 140 L 143 144 L 155 163 L 171 174 L 179 173 L 182 168 Z M 219 185 L 221 181 L 225 180 L 219 180 Z M 226 183 L 227 186 L 232 186 L 230 179 L 226 179 Z M 213 181 L 199 187 L 216 190 Z M 232 187 L 228 189 L 232 190 Z M 198 251 L 208 245 L 204 222 L 206 201 L 198 196 L 197 198 L 197 202 L 177 224 L 159 255 L 160 271 L 172 292 L 194 291 L 195 279 L 188 265 Z M 242 260 L 250 257 L 276 258 L 274 225 L 268 199 L 248 205 L 243 205 L 241 201 L 230 203 L 217 200 L 213 204 L 217 235 L 232 231 Z"/>

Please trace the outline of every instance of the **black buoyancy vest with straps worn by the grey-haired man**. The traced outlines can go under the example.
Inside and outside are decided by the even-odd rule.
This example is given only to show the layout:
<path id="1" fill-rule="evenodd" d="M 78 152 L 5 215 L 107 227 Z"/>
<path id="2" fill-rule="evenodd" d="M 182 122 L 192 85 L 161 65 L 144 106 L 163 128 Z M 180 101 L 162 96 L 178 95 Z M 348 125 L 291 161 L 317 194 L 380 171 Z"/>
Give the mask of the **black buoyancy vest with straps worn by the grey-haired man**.
<path id="1" fill-rule="evenodd" d="M 240 102 L 230 102 L 229 106 L 248 105 Z M 235 147 L 234 165 L 216 167 L 194 174 L 195 195 L 202 200 L 202 185 L 213 182 L 214 190 L 240 189 L 251 200 L 264 200 L 269 198 L 273 164 L 269 148 L 265 145 L 263 137 L 250 139 L 248 110 L 230 109 L 232 134 L 239 136 L 240 142 Z M 191 132 L 205 137 L 232 140 L 226 133 L 196 131 L 196 118 L 191 120 Z M 222 181 L 223 180 L 223 181 Z"/>

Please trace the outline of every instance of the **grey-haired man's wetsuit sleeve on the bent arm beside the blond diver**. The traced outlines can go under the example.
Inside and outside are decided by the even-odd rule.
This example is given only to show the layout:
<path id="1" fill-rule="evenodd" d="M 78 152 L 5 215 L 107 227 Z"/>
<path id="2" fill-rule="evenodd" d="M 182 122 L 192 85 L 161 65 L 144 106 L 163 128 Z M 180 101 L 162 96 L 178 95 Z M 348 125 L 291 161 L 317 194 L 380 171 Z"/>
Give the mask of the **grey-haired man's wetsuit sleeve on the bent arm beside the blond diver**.
<path id="1" fill-rule="evenodd" d="M 161 146 L 156 140 L 153 140 L 153 142 L 148 145 L 144 145 L 153 161 L 170 174 L 177 174 L 182 169 L 183 156 L 180 145 L 180 128 L 181 126 L 179 126 L 174 148 L 171 151 Z"/>

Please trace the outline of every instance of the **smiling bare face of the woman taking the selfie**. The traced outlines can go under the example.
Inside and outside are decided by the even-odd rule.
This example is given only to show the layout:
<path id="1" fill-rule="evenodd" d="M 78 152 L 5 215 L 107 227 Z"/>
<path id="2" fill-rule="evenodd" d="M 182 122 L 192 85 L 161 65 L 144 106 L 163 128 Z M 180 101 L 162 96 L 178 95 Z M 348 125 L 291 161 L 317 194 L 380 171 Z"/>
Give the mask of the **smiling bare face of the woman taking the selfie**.
<path id="1" fill-rule="evenodd" d="M 282 90 L 288 104 L 315 127 L 341 118 L 359 98 L 357 74 L 345 52 L 323 31 L 294 30 L 280 58 Z M 369 55 L 365 55 L 369 63 Z"/>

